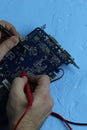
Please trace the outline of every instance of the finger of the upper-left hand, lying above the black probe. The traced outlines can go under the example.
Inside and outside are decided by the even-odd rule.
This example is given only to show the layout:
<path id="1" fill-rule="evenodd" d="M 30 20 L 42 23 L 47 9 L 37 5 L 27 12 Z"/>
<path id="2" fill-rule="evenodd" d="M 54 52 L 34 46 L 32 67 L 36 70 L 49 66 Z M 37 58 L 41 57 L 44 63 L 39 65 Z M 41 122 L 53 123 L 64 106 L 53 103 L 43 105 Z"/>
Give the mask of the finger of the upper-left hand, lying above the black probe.
<path id="1" fill-rule="evenodd" d="M 18 36 L 19 38 L 22 38 L 20 34 L 17 32 L 16 28 L 9 22 L 2 20 L 0 21 L 0 24 L 4 26 L 7 30 L 9 30 L 13 35 Z"/>

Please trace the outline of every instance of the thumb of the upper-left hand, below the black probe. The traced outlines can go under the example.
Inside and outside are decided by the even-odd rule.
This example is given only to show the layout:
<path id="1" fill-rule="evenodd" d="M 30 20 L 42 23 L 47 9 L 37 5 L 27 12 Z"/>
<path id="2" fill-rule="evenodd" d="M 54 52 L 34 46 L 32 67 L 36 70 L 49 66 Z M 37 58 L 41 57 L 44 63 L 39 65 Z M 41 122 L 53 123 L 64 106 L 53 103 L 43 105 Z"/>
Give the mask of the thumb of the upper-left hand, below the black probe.
<path id="1" fill-rule="evenodd" d="M 18 42 L 19 42 L 18 37 L 12 36 L 0 44 L 0 61 L 3 59 L 3 57 L 11 48 L 17 45 Z"/>

